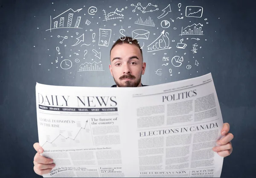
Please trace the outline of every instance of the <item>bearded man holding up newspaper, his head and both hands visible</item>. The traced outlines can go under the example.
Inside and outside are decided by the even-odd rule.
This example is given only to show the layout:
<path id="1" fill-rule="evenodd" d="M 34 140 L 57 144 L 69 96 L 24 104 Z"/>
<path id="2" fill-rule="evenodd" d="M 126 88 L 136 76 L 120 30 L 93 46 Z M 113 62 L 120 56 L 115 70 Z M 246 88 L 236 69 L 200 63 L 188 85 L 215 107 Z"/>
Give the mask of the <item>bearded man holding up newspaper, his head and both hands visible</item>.
<path id="1" fill-rule="evenodd" d="M 141 76 L 145 73 L 146 63 L 143 62 L 142 50 L 137 40 L 132 40 L 131 37 L 126 37 L 123 41 L 117 40 L 111 48 L 110 61 L 109 69 L 116 83 L 112 87 L 145 86 L 141 83 Z M 213 148 L 213 151 L 218 152 L 222 157 L 230 155 L 233 150 L 230 142 L 233 134 L 228 133 L 229 130 L 230 125 L 224 123 L 221 135 L 225 136 L 217 141 L 220 146 Z M 34 144 L 34 148 L 37 151 L 34 157 L 35 173 L 38 175 L 49 173 L 55 167 L 53 160 L 40 155 L 44 150 L 38 143 Z"/>

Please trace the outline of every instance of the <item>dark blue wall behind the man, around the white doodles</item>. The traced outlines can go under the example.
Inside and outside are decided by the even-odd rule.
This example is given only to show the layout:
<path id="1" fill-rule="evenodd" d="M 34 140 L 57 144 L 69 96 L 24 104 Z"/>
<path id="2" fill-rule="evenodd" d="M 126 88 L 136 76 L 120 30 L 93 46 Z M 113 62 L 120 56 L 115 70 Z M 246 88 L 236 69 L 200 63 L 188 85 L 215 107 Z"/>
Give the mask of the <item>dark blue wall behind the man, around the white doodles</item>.
<path id="1" fill-rule="evenodd" d="M 54 4 L 52 4 L 54 2 Z M 33 158 L 35 150 L 33 144 L 38 142 L 35 83 L 67 86 L 111 86 L 113 79 L 108 71 L 109 49 L 101 47 L 102 56 L 107 56 L 102 62 L 105 72 L 91 72 L 77 75 L 76 71 L 58 70 L 51 66 L 50 62 L 55 61 L 55 48 L 59 42 L 56 32 L 45 32 L 49 27 L 49 15 L 60 14 L 68 8 L 84 9 L 90 6 L 98 8 L 98 15 L 94 17 L 86 15 L 86 18 L 93 23 L 91 28 L 98 35 L 98 30 L 104 27 L 102 9 L 108 6 L 123 8 L 128 6 L 125 20 L 113 26 L 111 41 L 117 40 L 120 36 L 119 29 L 125 28 L 126 34 L 131 36 L 127 28 L 128 16 L 131 14 L 136 19 L 131 3 L 137 4 L 134 0 L 2 0 L 0 2 L 0 176 L 1 177 L 39 177 L 33 171 Z M 149 1 L 141 0 L 147 4 Z M 197 69 L 193 68 L 190 73 L 184 68 L 173 69 L 173 76 L 170 78 L 168 69 L 163 71 L 162 76 L 154 73 L 161 66 L 162 53 L 152 55 L 143 49 L 144 59 L 147 62 L 146 73 L 143 76 L 143 84 L 154 85 L 176 80 L 197 77 L 212 72 L 218 100 L 224 122 L 230 123 L 230 132 L 233 133 L 233 153 L 224 158 L 222 178 L 255 177 L 256 168 L 256 3 L 254 0 L 161 0 L 153 1 L 159 6 L 157 16 L 169 3 L 172 6 L 173 14 L 179 14 L 177 4 L 182 3 L 181 9 L 184 13 L 186 6 L 203 6 L 204 18 L 208 18 L 209 24 L 205 25 L 205 35 L 208 40 L 202 41 L 202 50 L 195 55 L 200 61 Z M 68 6 L 67 6 L 68 4 Z M 56 10 L 56 12 L 53 11 Z M 140 13 L 141 14 L 141 13 Z M 36 16 L 36 17 L 34 17 Z M 145 15 L 147 17 L 148 15 Z M 150 41 L 157 38 L 161 28 L 160 20 L 154 17 L 156 33 Z M 183 15 L 184 16 L 184 15 Z M 177 17 L 174 16 L 174 17 Z M 220 19 L 219 19 L 220 17 Z M 83 19 L 83 20 L 85 20 Z M 96 26 L 94 20 L 98 20 Z M 190 20 L 190 19 L 189 19 Z M 195 20 L 195 19 L 193 19 Z M 176 21 L 176 20 L 175 20 Z M 187 20 L 188 21 L 188 20 Z M 187 21 L 176 23 L 178 26 L 187 24 Z M 204 21 L 204 20 L 203 20 Z M 196 21 L 196 22 L 202 22 Z M 134 23 L 134 20 L 132 24 Z M 84 24 L 84 22 L 83 22 Z M 205 24 L 205 22 L 204 22 Z M 85 24 L 84 24 L 85 26 Z M 134 24 L 133 24 L 134 26 Z M 133 29 L 133 26 L 131 29 Z M 39 27 L 39 29 L 37 29 Z M 90 29 L 90 28 L 88 28 Z M 151 35 L 153 35 L 151 31 Z M 215 32 L 216 31 L 216 32 Z M 180 32 L 180 31 L 179 31 Z M 172 37 L 179 41 L 176 33 L 170 31 Z M 65 32 L 66 33 L 66 32 Z M 64 31 L 62 35 L 65 35 Z M 72 35 L 69 32 L 69 35 Z M 53 38 L 50 38 L 53 35 Z M 175 36 L 176 35 L 176 36 Z M 177 37 L 177 38 L 176 38 Z M 47 38 L 44 41 L 44 38 Z M 90 34 L 91 38 L 91 34 Z M 184 37 L 186 38 L 186 37 Z M 75 40 L 75 39 L 74 39 Z M 139 40 L 140 41 L 140 40 Z M 73 42 L 70 42 L 71 44 Z M 149 41 L 147 42 L 149 44 Z M 151 42 L 150 42 L 151 43 Z M 113 43 L 111 43 L 113 44 Z M 97 45 L 97 39 L 96 43 Z M 33 47 L 35 46 L 35 47 Z M 47 49 L 50 49 L 49 52 Z M 98 48 L 97 48 L 98 49 Z M 64 49 L 61 49 L 64 51 Z M 172 58 L 175 55 L 175 46 L 168 51 Z M 88 50 L 89 51 L 89 50 Z M 178 51 L 177 54 L 183 52 Z M 54 56 L 52 60 L 49 55 Z M 69 51 L 64 51 L 69 55 Z M 90 57 L 94 53 L 88 54 Z M 192 54 L 186 55 L 192 58 Z M 204 57 L 204 60 L 203 58 Z M 157 58 L 157 59 L 156 59 Z M 184 57 L 185 59 L 185 57 Z M 159 62 L 160 61 L 160 62 Z M 192 61 L 192 63 L 194 60 Z M 41 66 L 38 64 L 42 63 Z M 51 69 L 48 71 L 48 69 Z M 181 72 L 179 75 L 177 72 Z M 197 72 L 198 71 L 198 72 Z"/>

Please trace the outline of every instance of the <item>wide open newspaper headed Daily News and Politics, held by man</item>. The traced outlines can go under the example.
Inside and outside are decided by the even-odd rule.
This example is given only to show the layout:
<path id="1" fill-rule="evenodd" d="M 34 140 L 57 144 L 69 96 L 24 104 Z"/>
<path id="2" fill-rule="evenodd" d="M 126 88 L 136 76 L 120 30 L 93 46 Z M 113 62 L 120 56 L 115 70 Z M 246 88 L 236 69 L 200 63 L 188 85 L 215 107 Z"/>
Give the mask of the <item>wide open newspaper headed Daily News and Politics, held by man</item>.
<path id="1" fill-rule="evenodd" d="M 220 177 L 223 120 L 211 73 L 145 87 L 36 84 L 44 177 Z"/>

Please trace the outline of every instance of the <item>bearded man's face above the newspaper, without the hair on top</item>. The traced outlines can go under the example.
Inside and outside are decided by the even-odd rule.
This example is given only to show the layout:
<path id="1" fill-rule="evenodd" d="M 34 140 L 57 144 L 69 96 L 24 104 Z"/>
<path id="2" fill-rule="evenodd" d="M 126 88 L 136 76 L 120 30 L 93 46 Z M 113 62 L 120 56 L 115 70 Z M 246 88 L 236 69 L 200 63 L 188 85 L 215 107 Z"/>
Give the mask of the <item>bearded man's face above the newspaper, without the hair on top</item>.
<path id="1" fill-rule="evenodd" d="M 141 86 L 141 75 L 144 75 L 146 63 L 140 49 L 134 44 L 118 44 L 110 55 L 109 69 L 118 87 Z"/>

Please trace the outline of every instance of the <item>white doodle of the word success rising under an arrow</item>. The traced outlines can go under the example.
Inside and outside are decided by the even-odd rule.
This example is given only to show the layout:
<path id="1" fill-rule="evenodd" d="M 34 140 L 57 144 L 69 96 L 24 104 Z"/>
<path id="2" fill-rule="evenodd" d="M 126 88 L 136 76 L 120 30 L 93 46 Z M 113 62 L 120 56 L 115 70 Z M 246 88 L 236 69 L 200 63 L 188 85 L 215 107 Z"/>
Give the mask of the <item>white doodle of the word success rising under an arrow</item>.
<path id="1" fill-rule="evenodd" d="M 170 40 L 168 37 L 169 33 L 163 30 L 163 32 L 161 32 L 160 36 L 154 40 L 150 45 L 148 45 L 148 52 L 154 52 L 154 51 L 159 51 L 159 50 L 163 50 L 163 49 L 171 49 L 172 47 L 170 46 Z M 161 46 L 163 43 L 163 46 Z"/>

